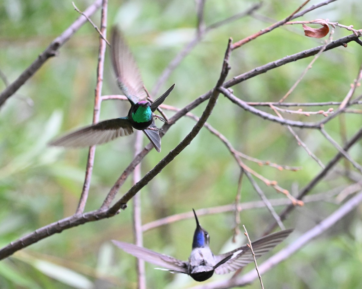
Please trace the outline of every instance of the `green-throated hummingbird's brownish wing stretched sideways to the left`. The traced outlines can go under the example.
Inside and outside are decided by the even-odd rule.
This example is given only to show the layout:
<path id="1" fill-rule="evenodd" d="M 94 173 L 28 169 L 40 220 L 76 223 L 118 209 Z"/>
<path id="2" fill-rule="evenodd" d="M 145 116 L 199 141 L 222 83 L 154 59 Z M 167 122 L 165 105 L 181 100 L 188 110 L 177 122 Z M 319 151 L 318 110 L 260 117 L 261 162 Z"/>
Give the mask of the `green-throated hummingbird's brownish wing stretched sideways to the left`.
<path id="1" fill-rule="evenodd" d="M 109 142 L 122 135 L 133 133 L 133 128 L 127 117 L 113 118 L 86 126 L 70 134 L 66 134 L 55 141 L 51 146 L 88 147 L 95 144 Z"/>

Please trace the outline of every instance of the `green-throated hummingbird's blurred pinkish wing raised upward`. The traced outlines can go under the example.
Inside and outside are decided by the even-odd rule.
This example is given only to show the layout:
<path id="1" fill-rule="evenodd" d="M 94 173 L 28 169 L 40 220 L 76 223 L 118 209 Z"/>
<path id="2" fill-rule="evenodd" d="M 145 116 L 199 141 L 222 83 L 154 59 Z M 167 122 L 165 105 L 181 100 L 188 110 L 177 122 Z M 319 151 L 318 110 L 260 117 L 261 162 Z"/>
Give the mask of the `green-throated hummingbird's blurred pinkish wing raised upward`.
<path id="1" fill-rule="evenodd" d="M 130 103 L 136 104 L 146 98 L 138 67 L 125 39 L 117 28 L 113 28 L 111 37 L 110 56 L 117 84 Z"/>

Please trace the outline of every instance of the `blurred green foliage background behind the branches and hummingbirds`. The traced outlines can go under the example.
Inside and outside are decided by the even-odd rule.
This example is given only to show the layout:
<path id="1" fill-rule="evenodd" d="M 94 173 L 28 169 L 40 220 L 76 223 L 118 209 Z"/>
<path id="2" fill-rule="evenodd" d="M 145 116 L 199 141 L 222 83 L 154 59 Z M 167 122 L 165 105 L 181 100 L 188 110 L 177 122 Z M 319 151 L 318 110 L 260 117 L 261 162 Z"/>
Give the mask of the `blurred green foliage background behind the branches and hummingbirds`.
<path id="1" fill-rule="evenodd" d="M 77 1 L 84 10 L 92 1 Z M 256 1 L 208 0 L 206 25 L 242 12 Z M 273 21 L 293 12 L 302 1 L 265 1 L 256 17 L 244 17 L 205 36 L 171 74 L 162 91 L 176 87 L 166 103 L 181 108 L 214 87 L 220 73 L 227 39 L 243 39 Z M 308 5 L 316 4 L 311 1 Z M 151 91 L 163 69 L 195 34 L 194 1 L 109 1 L 109 26 L 117 23 L 126 35 L 138 62 L 146 87 Z M 361 27 L 361 5 L 357 0 L 336 1 L 314 10 L 300 20 L 329 18 L 344 25 Z M 70 0 L 3 0 L 0 2 L 0 70 L 12 82 L 47 45 L 62 33 L 79 14 Z M 266 18 L 268 17 L 268 18 Z M 92 19 L 99 23 L 100 13 Z M 298 19 L 299 20 L 299 19 Z M 349 35 L 337 28 L 334 39 Z M 323 43 L 323 39 L 303 36 L 300 26 L 281 27 L 257 38 L 232 53 L 228 79 Z M 0 111 L 0 246 L 46 224 L 75 212 L 83 185 L 87 149 L 63 150 L 47 147 L 56 135 L 89 124 L 92 120 L 98 53 L 98 35 L 86 23 Z M 235 95 L 247 101 L 278 101 L 293 85 L 311 58 L 273 69 L 235 87 Z M 323 53 L 306 77 L 289 96 L 289 102 L 340 101 L 349 90 L 362 61 L 361 47 L 349 43 Z M 0 82 L 0 90 L 5 83 Z M 361 94 L 361 89 L 357 90 Z M 109 61 L 106 61 L 102 94 L 117 94 Z M 114 105 L 116 104 L 116 105 Z M 102 103 L 101 119 L 125 115 L 129 104 L 115 100 Z M 205 104 L 192 113 L 200 116 Z M 167 112 L 168 116 L 172 113 Z M 306 120 L 306 117 L 295 117 Z M 307 121 L 319 120 L 310 117 Z M 342 121 L 346 136 L 361 127 L 360 115 L 345 115 L 326 125 L 326 130 L 342 143 Z M 241 152 L 261 160 L 303 167 L 298 172 L 279 171 L 245 161 L 252 169 L 288 190 L 302 188 L 320 167 L 299 146 L 286 128 L 263 121 L 220 96 L 209 123 L 224 134 Z M 162 140 L 162 151 L 151 151 L 142 163 L 142 173 L 153 168 L 190 131 L 194 121 L 183 118 Z M 336 150 L 317 131 L 297 130 L 307 146 L 327 163 Z M 146 139 L 144 139 L 146 143 Z M 97 209 L 110 187 L 132 160 L 134 137 L 120 138 L 97 147 L 92 187 L 86 210 Z M 351 155 L 361 163 L 361 143 Z M 210 157 L 211 156 L 211 157 Z M 341 162 L 341 165 L 343 163 Z M 235 199 L 239 168 L 226 147 L 206 129 L 142 190 L 143 223 L 160 217 L 214 207 Z M 312 193 L 345 184 L 344 178 L 325 180 Z M 259 182 L 269 198 L 280 197 Z M 131 185 L 127 180 L 118 196 Z M 244 178 L 242 201 L 258 200 Z M 327 203 L 306 204 L 286 221 L 295 227 L 295 236 L 328 216 L 337 208 Z M 281 211 L 280 207 L 276 208 Z M 315 215 L 310 214 L 311 211 Z M 307 216 L 307 217 L 306 217 Z M 255 239 L 270 223 L 265 209 L 241 212 L 242 224 Z M 230 242 L 233 214 L 200 217 L 211 235 L 217 253 Z M 361 288 L 362 263 L 361 208 L 350 214 L 303 250 L 263 276 L 268 288 Z M 144 234 L 144 246 L 186 259 L 190 253 L 194 220 L 172 223 Z M 165 229 L 166 228 L 166 229 Z M 134 258 L 114 248 L 110 240 L 132 242 L 131 209 L 119 215 L 66 230 L 27 247 L 0 262 L 0 288 L 136 288 Z M 245 241 L 242 241 L 243 243 Z M 235 247 L 237 244 L 233 244 Z M 188 276 L 153 270 L 147 264 L 149 288 L 186 288 L 195 285 Z M 252 269 L 249 265 L 247 269 Z M 230 276 L 213 276 L 208 281 Z M 249 288 L 260 288 L 254 282 Z"/>

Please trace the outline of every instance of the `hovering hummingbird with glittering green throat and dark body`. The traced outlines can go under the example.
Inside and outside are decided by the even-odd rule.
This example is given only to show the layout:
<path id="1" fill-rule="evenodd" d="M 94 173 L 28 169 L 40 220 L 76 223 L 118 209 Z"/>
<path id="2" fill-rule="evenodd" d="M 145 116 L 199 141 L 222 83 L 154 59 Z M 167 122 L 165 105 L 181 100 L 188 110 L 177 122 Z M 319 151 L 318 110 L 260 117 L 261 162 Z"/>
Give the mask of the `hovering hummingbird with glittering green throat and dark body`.
<path id="1" fill-rule="evenodd" d="M 133 129 L 142 130 L 151 141 L 156 151 L 161 151 L 161 138 L 155 118 L 166 120 L 153 112 L 167 98 L 175 85 L 172 85 L 163 95 L 154 102 L 149 102 L 143 88 L 136 62 L 119 31 L 113 29 L 111 36 L 111 62 L 117 77 L 117 84 L 131 103 L 126 117 L 113 118 L 86 126 L 72 133 L 66 134 L 49 144 L 64 147 L 87 147 L 111 141 L 114 138 L 129 135 Z"/>

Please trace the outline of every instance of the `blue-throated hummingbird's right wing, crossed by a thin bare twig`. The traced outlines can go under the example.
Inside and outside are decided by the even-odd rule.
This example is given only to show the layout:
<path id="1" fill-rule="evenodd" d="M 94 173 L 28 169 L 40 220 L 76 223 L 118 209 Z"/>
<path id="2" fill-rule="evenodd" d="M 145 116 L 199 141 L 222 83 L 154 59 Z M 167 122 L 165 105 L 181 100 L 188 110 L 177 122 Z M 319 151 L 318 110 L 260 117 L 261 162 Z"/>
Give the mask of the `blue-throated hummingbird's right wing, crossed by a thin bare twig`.
<path id="1" fill-rule="evenodd" d="M 292 231 L 293 229 L 283 230 L 252 242 L 255 258 L 269 252 L 288 237 Z M 215 265 L 215 273 L 219 275 L 236 271 L 254 260 L 250 248 L 246 245 L 228 253 L 217 255 L 215 259 L 217 262 Z M 224 260 L 225 262 L 223 262 Z"/>

